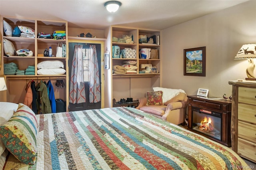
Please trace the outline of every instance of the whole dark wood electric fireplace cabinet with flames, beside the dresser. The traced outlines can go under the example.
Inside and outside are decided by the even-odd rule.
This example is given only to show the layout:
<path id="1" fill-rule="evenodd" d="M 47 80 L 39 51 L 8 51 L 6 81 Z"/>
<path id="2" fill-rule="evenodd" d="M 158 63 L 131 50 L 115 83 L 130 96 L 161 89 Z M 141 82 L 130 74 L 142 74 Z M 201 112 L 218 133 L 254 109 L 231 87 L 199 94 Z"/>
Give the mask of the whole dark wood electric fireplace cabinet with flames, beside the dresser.
<path id="1" fill-rule="evenodd" d="M 188 130 L 231 146 L 231 101 L 188 96 Z"/>

